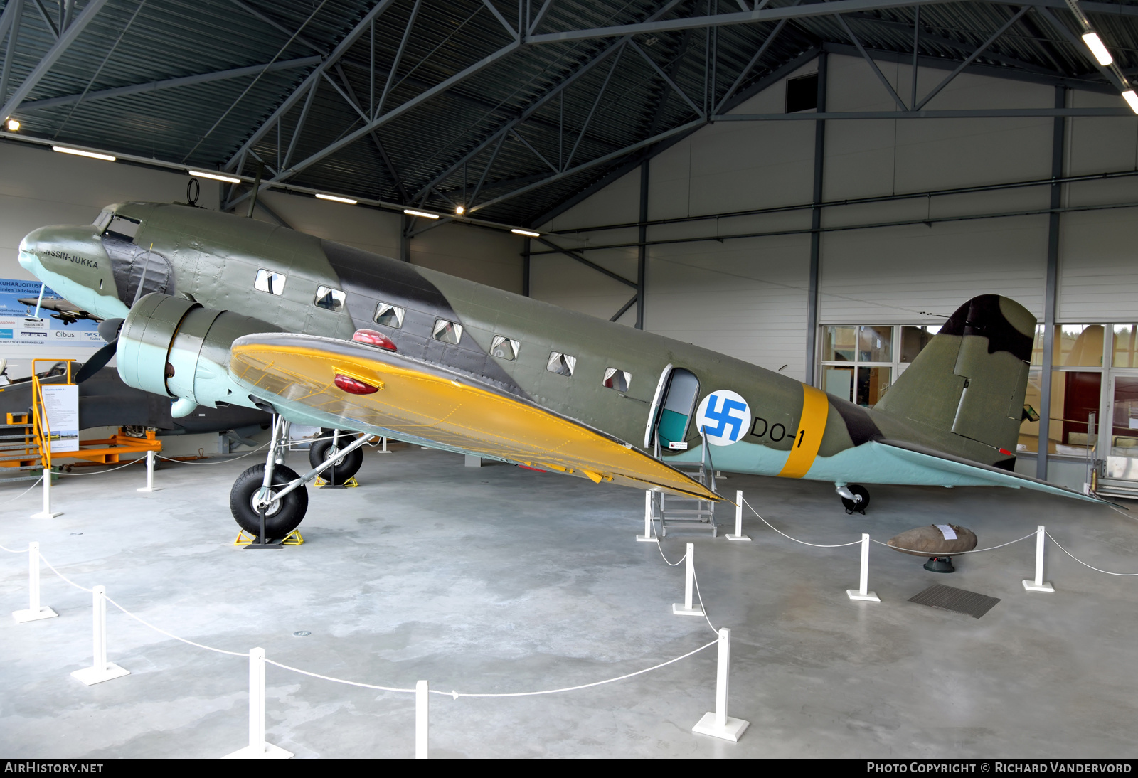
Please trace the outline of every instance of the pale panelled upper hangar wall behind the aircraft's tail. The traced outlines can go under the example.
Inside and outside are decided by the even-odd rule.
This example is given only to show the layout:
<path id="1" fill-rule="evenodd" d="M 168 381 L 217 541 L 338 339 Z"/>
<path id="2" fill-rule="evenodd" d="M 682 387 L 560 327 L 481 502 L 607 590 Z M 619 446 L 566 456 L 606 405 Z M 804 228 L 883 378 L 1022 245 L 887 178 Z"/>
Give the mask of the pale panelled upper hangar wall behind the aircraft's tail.
<path id="1" fill-rule="evenodd" d="M 912 71 L 881 64 L 908 98 Z M 816 69 L 811 65 L 800 73 Z M 946 75 L 921 69 L 918 93 Z M 736 113 L 783 110 L 784 82 Z M 960 75 L 935 108 L 1050 106 L 1054 88 Z M 1089 93 L 1071 105 L 1121 105 Z M 892 98 L 864 60 L 831 56 L 828 110 L 891 110 Z M 824 199 L 834 201 L 1050 177 L 1048 118 L 831 121 Z M 1138 168 L 1138 118 L 1067 119 L 1065 173 Z M 706 215 L 810 201 L 814 124 L 719 123 L 651 162 L 649 218 Z M 632 173 L 566 212 L 546 229 L 635 222 L 640 174 Z M 1138 179 L 1069 185 L 1064 206 L 1138 202 Z M 826 208 L 820 241 L 819 323 L 934 323 L 967 298 L 1012 297 L 1044 313 L 1047 216 L 940 221 L 1048 207 L 1046 187 Z M 735 217 L 649 229 L 649 240 L 802 230 L 809 212 Z M 898 221 L 909 225 L 833 230 Z M 717 232 L 718 230 L 718 232 Z M 563 235 L 563 245 L 634 241 L 636 230 Z M 618 255 L 619 251 L 619 255 Z M 1061 227 L 1061 322 L 1138 321 L 1138 210 L 1066 213 Z M 636 249 L 588 251 L 635 278 Z M 604 257 L 602 260 L 601 257 Z M 808 234 L 652 246 L 645 326 L 765 367 L 806 373 Z M 535 297 L 608 317 L 629 290 L 568 257 L 534 259 Z M 933 315 L 933 314 L 939 314 Z M 633 312 L 620 320 L 632 324 Z"/>

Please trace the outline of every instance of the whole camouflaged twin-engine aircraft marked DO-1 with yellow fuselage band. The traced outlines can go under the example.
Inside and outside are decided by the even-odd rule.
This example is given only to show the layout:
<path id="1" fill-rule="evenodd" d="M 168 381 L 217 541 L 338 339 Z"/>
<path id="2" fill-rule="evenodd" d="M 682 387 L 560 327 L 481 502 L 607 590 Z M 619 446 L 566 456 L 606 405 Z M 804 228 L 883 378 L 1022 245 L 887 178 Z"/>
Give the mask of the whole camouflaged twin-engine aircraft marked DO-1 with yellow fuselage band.
<path id="1" fill-rule="evenodd" d="M 965 303 L 873 408 L 651 332 L 343 243 L 176 204 L 108 206 L 46 226 L 19 263 L 104 321 L 131 387 L 279 414 L 273 453 L 233 486 L 234 518 L 280 538 L 304 478 L 280 464 L 287 423 L 372 436 L 597 483 L 718 500 L 675 465 L 859 483 L 1026 487 L 1012 472 L 1036 320 L 1005 297 Z M 121 328 L 118 322 L 123 320 Z M 115 331 L 117 330 L 117 338 Z M 338 434 L 338 433 L 337 433 Z M 345 434 L 345 439 L 349 436 Z"/>

